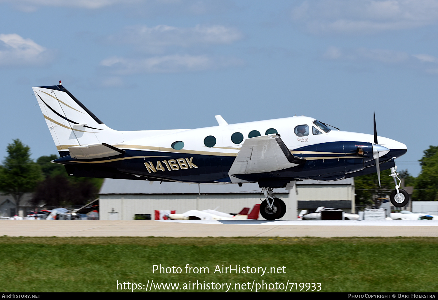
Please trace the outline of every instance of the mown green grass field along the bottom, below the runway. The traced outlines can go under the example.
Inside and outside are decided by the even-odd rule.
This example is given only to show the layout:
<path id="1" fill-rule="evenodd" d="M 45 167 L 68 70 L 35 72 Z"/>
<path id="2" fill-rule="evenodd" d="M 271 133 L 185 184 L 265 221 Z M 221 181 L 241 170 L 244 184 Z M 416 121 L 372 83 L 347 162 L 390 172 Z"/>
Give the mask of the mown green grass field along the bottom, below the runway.
<path id="1" fill-rule="evenodd" d="M 237 291 L 247 292 L 248 286 L 255 291 L 257 283 L 261 287 L 262 280 L 272 283 L 273 289 L 266 286 L 261 291 L 281 291 L 288 281 L 297 282 L 298 289 L 293 286 L 292 291 L 299 291 L 301 282 L 319 282 L 322 292 L 435 292 L 438 289 L 437 238 L 4 236 L 0 237 L 0 249 L 0 292 L 117 292 L 121 289 L 119 286 L 117 290 L 117 280 L 135 282 L 141 289 L 134 293 L 145 292 L 143 288 L 147 284 L 149 291 L 152 280 L 154 284 L 179 283 L 173 291 L 181 292 L 186 291 L 184 283 L 188 288 L 188 283 L 197 280 L 201 284 L 214 282 L 216 288 L 219 283 L 221 292 L 227 289 L 223 283 L 231 284 L 229 292 L 235 292 L 234 288 L 239 286 Z M 182 272 L 153 274 L 154 264 L 180 267 Z M 209 273 L 185 274 L 186 264 L 208 267 Z M 222 264 L 224 268 L 240 264 L 245 270 L 249 266 L 250 271 L 251 267 L 267 268 L 263 276 L 261 269 L 259 274 L 234 274 L 234 271 L 229 274 L 229 270 L 227 274 L 214 273 L 216 265 L 222 272 Z M 281 267 L 281 274 L 268 274 L 271 267 L 276 267 L 276 271 Z M 289 284 L 287 290 L 290 288 Z M 155 291 L 163 291 L 163 286 Z M 218 290 L 195 287 L 187 291 Z"/>

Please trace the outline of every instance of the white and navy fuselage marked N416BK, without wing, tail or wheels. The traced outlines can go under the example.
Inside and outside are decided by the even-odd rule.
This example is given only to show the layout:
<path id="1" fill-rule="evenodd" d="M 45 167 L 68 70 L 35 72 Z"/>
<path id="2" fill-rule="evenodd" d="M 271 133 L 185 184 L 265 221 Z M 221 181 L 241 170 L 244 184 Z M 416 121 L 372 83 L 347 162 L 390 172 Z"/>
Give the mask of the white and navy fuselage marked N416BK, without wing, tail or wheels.
<path id="1" fill-rule="evenodd" d="M 252 135 L 278 133 L 290 152 L 305 158 L 306 162 L 285 170 L 240 177 L 247 182 L 274 180 L 283 186 L 284 182 L 293 179 L 334 180 L 376 171 L 372 135 L 338 130 L 325 132 L 314 124 L 315 121 L 300 116 L 198 129 L 131 132 L 114 131 L 105 126 L 106 132 L 99 133 L 110 137 L 105 139 L 106 143 L 110 140 L 112 146 L 125 150 L 125 154 L 85 161 L 71 158 L 65 149 L 63 154 L 66 156 L 55 162 L 66 164 L 69 174 L 75 176 L 92 174 L 92 177 L 105 178 L 231 183 L 228 171 L 240 146 L 252 132 Z M 308 131 L 297 135 L 295 129 L 300 125 L 306 125 Z M 318 134 L 314 134 L 314 129 Z M 214 137 L 213 146 L 212 143 L 206 145 L 206 137 Z M 380 145 L 390 150 L 380 157 L 381 170 L 391 168 L 393 159 L 406 153 L 406 146 L 392 139 L 378 139 Z M 181 146 L 182 149 L 178 149 Z M 363 156 L 356 154 L 358 147 L 364 149 Z"/>

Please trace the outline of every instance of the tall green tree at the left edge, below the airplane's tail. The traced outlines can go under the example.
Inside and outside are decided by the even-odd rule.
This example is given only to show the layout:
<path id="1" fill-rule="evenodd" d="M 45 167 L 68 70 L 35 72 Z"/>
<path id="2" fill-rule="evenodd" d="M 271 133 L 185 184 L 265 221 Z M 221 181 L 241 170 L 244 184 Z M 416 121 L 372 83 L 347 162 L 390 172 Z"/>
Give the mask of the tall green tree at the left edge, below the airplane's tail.
<path id="1" fill-rule="evenodd" d="M 15 200 L 15 211 L 18 212 L 21 198 L 32 192 L 42 180 L 41 168 L 30 158 L 30 147 L 23 145 L 19 139 L 8 144 L 7 157 L 0 166 L 0 191 L 11 194 Z"/>

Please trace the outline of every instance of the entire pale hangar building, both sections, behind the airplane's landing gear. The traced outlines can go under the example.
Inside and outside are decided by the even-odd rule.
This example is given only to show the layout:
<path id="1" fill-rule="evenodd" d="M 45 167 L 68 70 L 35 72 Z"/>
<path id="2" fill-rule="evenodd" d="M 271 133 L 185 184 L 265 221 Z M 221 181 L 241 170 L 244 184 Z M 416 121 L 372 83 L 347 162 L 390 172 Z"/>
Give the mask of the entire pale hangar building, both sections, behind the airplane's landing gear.
<path id="1" fill-rule="evenodd" d="M 99 193 L 99 216 L 102 220 L 132 220 L 135 214 L 151 214 L 155 210 L 183 213 L 189 210 L 215 209 L 237 214 L 243 207 L 260 204 L 261 188 L 257 183 L 189 184 L 127 179 L 105 179 Z M 274 189 L 287 211 L 282 219 L 297 218 L 300 209 L 318 206 L 354 211 L 353 179 L 336 182 L 305 180 L 292 189 Z M 314 207 L 314 208 L 313 208 Z M 261 217 L 260 217 L 261 218 Z"/>

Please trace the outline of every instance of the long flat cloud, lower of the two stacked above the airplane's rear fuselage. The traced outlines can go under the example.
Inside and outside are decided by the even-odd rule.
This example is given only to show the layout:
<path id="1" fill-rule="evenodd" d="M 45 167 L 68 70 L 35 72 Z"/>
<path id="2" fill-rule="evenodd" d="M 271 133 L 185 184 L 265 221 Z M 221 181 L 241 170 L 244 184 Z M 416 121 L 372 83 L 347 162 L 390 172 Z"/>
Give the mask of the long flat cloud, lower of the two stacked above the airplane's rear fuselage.
<path id="1" fill-rule="evenodd" d="M 140 59 L 110 57 L 100 62 L 102 68 L 106 68 L 109 73 L 116 75 L 205 71 L 241 64 L 242 61 L 234 58 L 188 54 L 173 54 Z"/>

